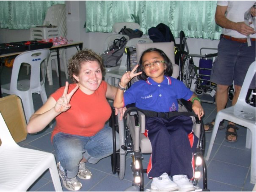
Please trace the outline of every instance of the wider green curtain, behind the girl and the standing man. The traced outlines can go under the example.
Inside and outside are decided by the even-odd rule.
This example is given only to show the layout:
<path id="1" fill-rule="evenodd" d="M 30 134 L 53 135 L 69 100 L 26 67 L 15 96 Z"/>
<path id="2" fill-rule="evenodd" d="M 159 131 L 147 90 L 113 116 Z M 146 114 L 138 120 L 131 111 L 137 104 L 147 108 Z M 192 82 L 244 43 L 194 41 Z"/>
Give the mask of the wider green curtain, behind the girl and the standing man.
<path id="1" fill-rule="evenodd" d="M 175 38 L 219 39 L 222 28 L 214 15 L 217 1 L 86 1 L 87 32 L 112 32 L 117 22 L 140 24 L 143 34 L 159 23 L 168 25 Z"/>

